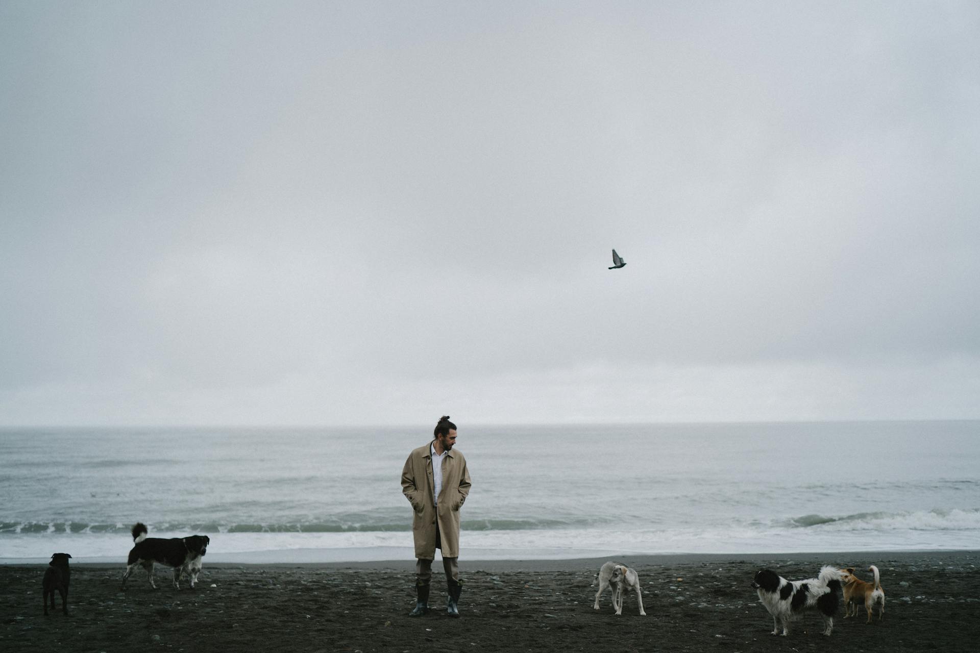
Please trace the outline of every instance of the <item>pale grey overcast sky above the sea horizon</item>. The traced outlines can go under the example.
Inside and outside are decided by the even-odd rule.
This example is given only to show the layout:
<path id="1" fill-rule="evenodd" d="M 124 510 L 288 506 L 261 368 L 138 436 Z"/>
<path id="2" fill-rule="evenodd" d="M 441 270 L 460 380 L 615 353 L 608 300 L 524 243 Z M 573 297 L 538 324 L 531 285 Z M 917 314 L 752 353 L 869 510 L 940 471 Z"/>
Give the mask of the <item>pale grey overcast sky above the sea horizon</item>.
<path id="1" fill-rule="evenodd" d="M 980 418 L 978 153 L 970 1 L 5 0 L 0 425 Z"/>

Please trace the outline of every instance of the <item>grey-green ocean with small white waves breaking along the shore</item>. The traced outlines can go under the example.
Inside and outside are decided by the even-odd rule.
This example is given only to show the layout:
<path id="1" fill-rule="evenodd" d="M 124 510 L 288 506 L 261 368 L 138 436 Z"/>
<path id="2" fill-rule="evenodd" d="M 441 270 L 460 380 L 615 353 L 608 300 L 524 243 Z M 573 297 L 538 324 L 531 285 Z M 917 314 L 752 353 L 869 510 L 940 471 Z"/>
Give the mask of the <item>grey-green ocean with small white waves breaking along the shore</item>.
<path id="1" fill-rule="evenodd" d="M 980 421 L 466 427 L 462 557 L 980 548 Z M 412 560 L 429 428 L 0 430 L 0 563 Z"/>

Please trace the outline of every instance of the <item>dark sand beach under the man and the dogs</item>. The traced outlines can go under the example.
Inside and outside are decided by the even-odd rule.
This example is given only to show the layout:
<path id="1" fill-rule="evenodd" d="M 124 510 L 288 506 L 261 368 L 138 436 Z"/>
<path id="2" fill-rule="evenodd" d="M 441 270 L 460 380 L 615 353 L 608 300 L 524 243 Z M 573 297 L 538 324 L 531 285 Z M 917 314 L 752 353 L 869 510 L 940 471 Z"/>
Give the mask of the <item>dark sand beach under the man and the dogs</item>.
<path id="1" fill-rule="evenodd" d="M 123 564 L 75 565 L 69 617 L 45 617 L 44 566 L 0 566 L 0 650 L 33 651 L 973 651 L 980 647 L 980 551 L 623 557 L 640 574 L 647 616 L 627 596 L 592 609 L 603 560 L 461 560 L 461 619 L 421 619 L 413 563 L 205 563 L 194 590 L 160 589 L 142 571 L 121 591 Z M 788 637 L 749 583 L 768 567 L 791 580 L 823 564 L 881 570 L 885 620 L 834 621 L 828 638 L 809 614 Z M 864 574 L 862 578 L 870 578 Z M 135 581 L 135 582 L 134 582 Z"/>

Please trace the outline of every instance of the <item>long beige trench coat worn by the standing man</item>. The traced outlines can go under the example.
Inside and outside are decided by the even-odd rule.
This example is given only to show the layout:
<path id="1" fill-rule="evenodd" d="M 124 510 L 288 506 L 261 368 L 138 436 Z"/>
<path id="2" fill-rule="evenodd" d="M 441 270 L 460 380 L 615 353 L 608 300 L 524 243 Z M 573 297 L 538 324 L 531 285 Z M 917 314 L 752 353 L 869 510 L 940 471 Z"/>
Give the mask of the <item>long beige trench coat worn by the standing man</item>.
<path id="1" fill-rule="evenodd" d="M 442 489 L 439 492 L 439 514 L 436 515 L 431 446 L 430 442 L 414 449 L 402 469 L 402 493 L 415 511 L 412 535 L 416 540 L 416 557 L 435 559 L 435 522 L 438 519 L 443 557 L 458 558 L 460 508 L 466 501 L 470 485 L 466 458 L 454 448 L 442 459 Z"/>

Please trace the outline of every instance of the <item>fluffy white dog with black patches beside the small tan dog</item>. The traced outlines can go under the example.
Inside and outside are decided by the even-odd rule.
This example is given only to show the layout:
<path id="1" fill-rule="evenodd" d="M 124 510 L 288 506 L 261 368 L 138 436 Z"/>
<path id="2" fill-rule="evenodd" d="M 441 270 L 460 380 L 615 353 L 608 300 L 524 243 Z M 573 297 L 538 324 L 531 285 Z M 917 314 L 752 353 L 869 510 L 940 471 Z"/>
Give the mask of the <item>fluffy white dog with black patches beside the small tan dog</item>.
<path id="1" fill-rule="evenodd" d="M 834 630 L 834 614 L 840 602 L 841 570 L 829 565 L 820 569 L 815 579 L 787 581 L 772 570 L 756 573 L 752 586 L 759 593 L 759 600 L 772 615 L 772 634 L 790 632 L 790 622 L 800 619 L 808 610 L 815 610 L 823 618 L 823 634 Z"/>

